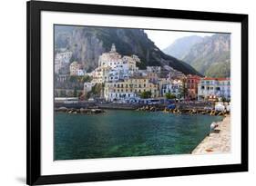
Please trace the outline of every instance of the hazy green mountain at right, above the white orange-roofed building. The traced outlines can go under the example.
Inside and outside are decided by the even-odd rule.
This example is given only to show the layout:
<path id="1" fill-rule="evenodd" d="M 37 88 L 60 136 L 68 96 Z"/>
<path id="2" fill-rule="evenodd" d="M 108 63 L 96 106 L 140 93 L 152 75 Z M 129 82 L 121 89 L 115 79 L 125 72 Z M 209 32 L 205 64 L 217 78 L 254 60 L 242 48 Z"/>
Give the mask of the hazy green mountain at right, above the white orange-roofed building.
<path id="1" fill-rule="evenodd" d="M 230 34 L 206 36 L 194 44 L 182 61 L 211 77 L 230 76 Z"/>

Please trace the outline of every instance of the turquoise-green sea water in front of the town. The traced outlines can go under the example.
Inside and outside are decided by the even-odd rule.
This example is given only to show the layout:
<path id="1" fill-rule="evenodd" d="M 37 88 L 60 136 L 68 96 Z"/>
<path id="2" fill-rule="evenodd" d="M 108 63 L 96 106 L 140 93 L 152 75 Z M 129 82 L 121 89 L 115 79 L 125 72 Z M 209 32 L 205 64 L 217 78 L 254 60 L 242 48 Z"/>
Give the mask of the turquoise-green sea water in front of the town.
<path id="1" fill-rule="evenodd" d="M 96 115 L 55 113 L 55 160 L 184 154 L 220 116 L 108 110 Z"/>

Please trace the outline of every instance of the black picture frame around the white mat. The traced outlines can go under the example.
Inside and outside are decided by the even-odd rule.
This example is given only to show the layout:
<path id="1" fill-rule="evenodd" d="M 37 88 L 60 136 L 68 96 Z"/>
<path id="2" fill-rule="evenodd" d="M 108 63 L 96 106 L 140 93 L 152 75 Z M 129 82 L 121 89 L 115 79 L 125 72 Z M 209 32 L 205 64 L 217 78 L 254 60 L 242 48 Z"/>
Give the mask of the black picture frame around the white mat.
<path id="1" fill-rule="evenodd" d="M 26 149 L 26 183 L 28 185 L 112 181 L 152 177 L 167 177 L 222 172 L 248 171 L 248 15 L 125 7 L 112 5 L 84 5 L 30 1 L 27 11 L 27 149 Z M 139 171 L 108 171 L 97 173 L 76 173 L 65 175 L 41 175 L 41 70 L 40 70 L 40 24 L 41 11 L 93 13 L 101 15 L 137 15 L 148 17 L 180 18 L 189 20 L 209 20 L 241 23 L 241 163 L 180 167 Z"/>

